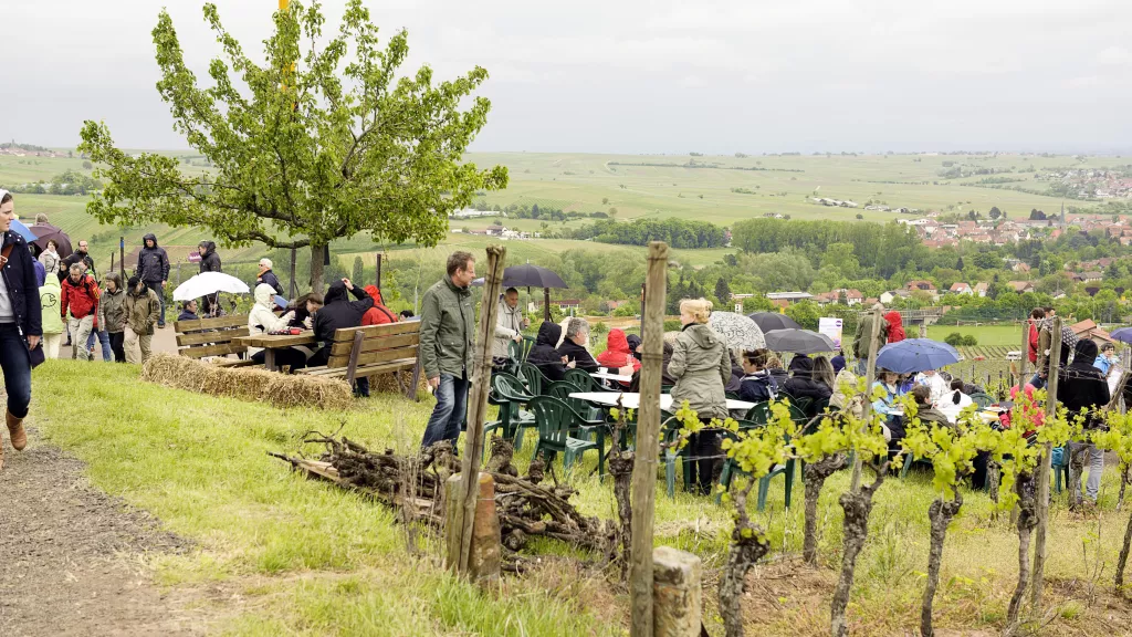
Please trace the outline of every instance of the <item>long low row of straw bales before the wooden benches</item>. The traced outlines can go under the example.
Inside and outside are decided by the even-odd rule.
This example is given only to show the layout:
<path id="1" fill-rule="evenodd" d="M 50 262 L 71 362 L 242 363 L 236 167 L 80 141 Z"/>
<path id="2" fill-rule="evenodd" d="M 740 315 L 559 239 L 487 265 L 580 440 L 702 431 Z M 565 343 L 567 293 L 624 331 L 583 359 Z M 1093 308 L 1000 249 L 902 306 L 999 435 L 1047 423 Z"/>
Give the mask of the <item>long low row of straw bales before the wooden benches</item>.
<path id="1" fill-rule="evenodd" d="M 340 379 L 221 367 L 171 354 L 155 354 L 146 360 L 142 366 L 142 380 L 208 396 L 266 402 L 280 408 L 342 410 L 353 405 L 350 385 Z"/>

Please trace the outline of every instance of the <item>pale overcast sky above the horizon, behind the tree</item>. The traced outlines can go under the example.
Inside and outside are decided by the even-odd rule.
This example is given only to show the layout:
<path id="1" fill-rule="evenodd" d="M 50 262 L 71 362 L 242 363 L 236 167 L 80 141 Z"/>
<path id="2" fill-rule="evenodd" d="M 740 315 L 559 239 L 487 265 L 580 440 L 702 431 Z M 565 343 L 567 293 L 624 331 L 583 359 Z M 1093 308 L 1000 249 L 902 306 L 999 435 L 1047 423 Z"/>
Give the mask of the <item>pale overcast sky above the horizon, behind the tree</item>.
<path id="1" fill-rule="evenodd" d="M 326 0 L 328 31 L 345 0 Z M 154 84 L 169 8 L 190 66 L 201 0 L 5 0 L 0 139 L 181 148 Z M 216 0 L 259 53 L 276 0 Z M 1127 0 L 367 0 L 406 67 L 490 74 L 475 151 L 1132 150 Z"/>

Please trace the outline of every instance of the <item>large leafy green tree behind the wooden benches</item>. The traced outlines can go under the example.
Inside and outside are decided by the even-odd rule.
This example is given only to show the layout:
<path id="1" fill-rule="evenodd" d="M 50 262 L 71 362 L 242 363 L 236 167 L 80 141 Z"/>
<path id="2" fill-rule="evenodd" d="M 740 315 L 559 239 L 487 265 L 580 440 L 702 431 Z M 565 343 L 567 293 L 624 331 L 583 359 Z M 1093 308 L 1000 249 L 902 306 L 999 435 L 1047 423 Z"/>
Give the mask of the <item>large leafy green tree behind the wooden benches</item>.
<path id="1" fill-rule="evenodd" d="M 332 240 L 369 232 L 378 241 L 435 246 L 448 213 L 479 190 L 506 187 L 505 168 L 461 163 L 490 110 L 484 97 L 465 102 L 487 79 L 484 69 L 438 85 L 429 67 L 404 74 L 406 33 L 380 48 L 361 0 L 348 2 L 334 37 L 323 36 L 318 3 L 276 12 L 261 66 L 223 27 L 215 5 L 204 15 L 224 50 L 209 66 L 207 88 L 186 66 L 166 11 L 153 39 L 157 90 L 174 129 L 211 170 L 188 176 L 177 158 L 131 156 L 114 146 L 105 124 L 86 121 L 78 150 L 105 167 L 96 177 L 109 178 L 87 204 L 100 221 L 204 227 L 228 246 L 309 246 L 318 290 Z"/>

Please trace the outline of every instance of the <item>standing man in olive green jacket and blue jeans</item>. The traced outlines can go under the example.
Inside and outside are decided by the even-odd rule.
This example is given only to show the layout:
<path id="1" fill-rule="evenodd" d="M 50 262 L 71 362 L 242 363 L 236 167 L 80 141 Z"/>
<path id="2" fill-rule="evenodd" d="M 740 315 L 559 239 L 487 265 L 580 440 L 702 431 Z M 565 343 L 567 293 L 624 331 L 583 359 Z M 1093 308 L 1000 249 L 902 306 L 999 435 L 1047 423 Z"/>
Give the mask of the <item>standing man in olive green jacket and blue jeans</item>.
<path id="1" fill-rule="evenodd" d="M 421 366 L 436 408 L 424 428 L 422 448 L 441 440 L 460 439 L 460 425 L 468 408 L 468 385 L 472 377 L 475 346 L 475 308 L 469 286 L 475 279 L 475 258 L 466 252 L 448 257 L 448 275 L 421 299 Z"/>

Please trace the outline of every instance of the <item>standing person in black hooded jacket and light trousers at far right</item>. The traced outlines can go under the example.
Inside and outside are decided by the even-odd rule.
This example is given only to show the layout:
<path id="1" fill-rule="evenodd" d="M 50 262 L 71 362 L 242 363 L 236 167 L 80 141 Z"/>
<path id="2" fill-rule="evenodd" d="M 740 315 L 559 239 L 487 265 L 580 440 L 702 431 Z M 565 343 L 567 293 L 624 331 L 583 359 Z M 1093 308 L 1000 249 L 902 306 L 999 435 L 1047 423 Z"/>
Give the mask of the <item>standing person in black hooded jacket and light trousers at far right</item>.
<path id="1" fill-rule="evenodd" d="M 1078 414 L 1084 414 L 1084 430 L 1091 431 L 1105 425 L 1104 414 L 1099 410 L 1108 406 L 1112 396 L 1108 393 L 1108 381 L 1105 375 L 1097 370 L 1094 364 L 1097 360 L 1097 343 L 1090 339 L 1080 340 L 1073 347 L 1073 362 L 1065 367 L 1064 379 L 1060 379 L 1057 384 L 1057 400 L 1069 410 L 1069 418 L 1072 422 Z M 1094 503 L 1100 492 L 1100 474 L 1105 470 L 1105 453 L 1097 449 L 1095 444 L 1082 444 L 1070 442 L 1070 457 L 1074 458 L 1079 453 L 1089 456 L 1089 481 L 1086 484 L 1086 496 Z M 1073 496 L 1070 502 L 1077 500 L 1081 493 L 1080 473 L 1078 483 L 1072 485 Z"/>

